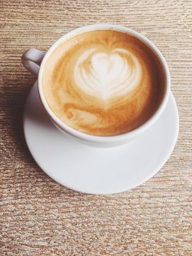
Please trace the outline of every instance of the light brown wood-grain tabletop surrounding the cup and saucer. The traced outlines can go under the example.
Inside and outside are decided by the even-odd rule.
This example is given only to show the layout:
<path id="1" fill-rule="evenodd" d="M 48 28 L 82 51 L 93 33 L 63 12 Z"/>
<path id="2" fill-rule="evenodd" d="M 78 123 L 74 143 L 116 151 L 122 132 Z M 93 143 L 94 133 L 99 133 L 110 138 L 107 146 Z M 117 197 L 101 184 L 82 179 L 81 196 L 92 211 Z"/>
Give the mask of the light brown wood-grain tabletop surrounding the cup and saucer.
<path id="1" fill-rule="evenodd" d="M 192 1 L 0 0 L 0 255 L 192 255 Z M 180 113 L 172 157 L 150 181 L 118 195 L 83 195 L 36 165 L 22 129 L 34 82 L 20 63 L 66 32 L 115 23 L 164 54 Z"/>

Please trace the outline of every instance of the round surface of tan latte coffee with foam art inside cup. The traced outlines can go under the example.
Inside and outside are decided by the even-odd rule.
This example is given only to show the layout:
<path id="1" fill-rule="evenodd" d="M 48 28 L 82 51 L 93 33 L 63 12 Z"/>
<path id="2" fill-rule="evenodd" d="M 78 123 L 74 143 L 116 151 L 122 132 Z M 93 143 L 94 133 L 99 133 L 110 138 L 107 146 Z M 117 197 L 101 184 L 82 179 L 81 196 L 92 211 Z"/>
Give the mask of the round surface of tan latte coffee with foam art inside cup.
<path id="1" fill-rule="evenodd" d="M 110 30 L 85 32 L 58 45 L 47 59 L 42 83 L 61 121 L 100 136 L 139 127 L 164 94 L 164 73 L 150 49 Z"/>

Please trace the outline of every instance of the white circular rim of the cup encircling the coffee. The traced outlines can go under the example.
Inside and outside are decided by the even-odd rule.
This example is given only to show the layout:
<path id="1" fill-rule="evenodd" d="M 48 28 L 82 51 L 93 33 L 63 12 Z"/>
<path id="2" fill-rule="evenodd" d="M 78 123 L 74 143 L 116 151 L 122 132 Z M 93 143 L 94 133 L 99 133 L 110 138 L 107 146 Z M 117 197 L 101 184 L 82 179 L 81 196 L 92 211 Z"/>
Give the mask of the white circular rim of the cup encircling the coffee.
<path id="1" fill-rule="evenodd" d="M 158 109 L 155 110 L 155 113 L 153 113 L 153 116 L 147 119 L 144 124 L 137 127 L 136 129 L 133 129 L 129 132 L 120 134 L 120 135 L 112 135 L 112 136 L 97 136 L 97 135 L 89 135 L 83 132 L 78 131 L 77 129 L 74 129 L 72 127 L 69 127 L 69 125 L 65 124 L 63 121 L 61 121 L 58 116 L 55 115 L 53 110 L 49 107 L 47 104 L 47 100 L 45 99 L 45 95 L 43 93 L 42 89 L 42 75 L 45 67 L 45 63 L 50 56 L 50 53 L 57 48 L 57 46 L 66 40 L 68 40 L 71 37 L 74 37 L 74 35 L 84 33 L 85 31 L 94 31 L 94 30 L 114 30 L 114 31 L 121 31 L 126 34 L 131 34 L 132 36 L 136 37 L 145 45 L 147 45 L 150 50 L 153 51 L 155 56 L 157 56 L 158 61 L 160 61 L 161 66 L 164 69 L 164 75 L 165 75 L 165 91 L 164 91 L 164 97 L 161 100 L 160 105 L 158 106 Z M 166 64 L 166 60 L 164 59 L 164 56 L 158 50 L 158 48 L 151 42 L 147 37 L 143 36 L 142 34 L 139 34 L 137 31 L 134 31 L 133 29 L 128 29 L 123 26 L 118 25 L 112 25 L 108 23 L 101 23 L 101 24 L 93 24 L 88 26 L 82 26 L 78 29 L 74 29 L 70 31 L 69 33 L 65 34 L 63 37 L 60 37 L 58 40 L 56 40 L 53 45 L 47 50 L 47 53 L 45 53 L 45 57 L 42 60 L 42 63 L 39 68 L 39 74 L 38 74 L 38 92 L 39 97 L 41 99 L 42 105 L 44 106 L 45 110 L 47 111 L 48 116 L 53 120 L 53 122 L 60 128 L 61 130 L 64 130 L 65 132 L 69 133 L 70 135 L 74 136 L 75 138 L 80 138 L 82 140 L 87 140 L 91 142 L 100 142 L 100 143 L 107 143 L 107 142 L 117 142 L 120 140 L 128 140 L 131 138 L 136 137 L 140 133 L 144 132 L 146 129 L 148 129 L 150 126 L 152 126 L 155 121 L 161 116 L 161 113 L 163 113 L 164 108 L 166 107 L 166 104 L 169 99 L 169 92 L 170 92 L 170 73 L 169 73 L 169 67 Z"/>

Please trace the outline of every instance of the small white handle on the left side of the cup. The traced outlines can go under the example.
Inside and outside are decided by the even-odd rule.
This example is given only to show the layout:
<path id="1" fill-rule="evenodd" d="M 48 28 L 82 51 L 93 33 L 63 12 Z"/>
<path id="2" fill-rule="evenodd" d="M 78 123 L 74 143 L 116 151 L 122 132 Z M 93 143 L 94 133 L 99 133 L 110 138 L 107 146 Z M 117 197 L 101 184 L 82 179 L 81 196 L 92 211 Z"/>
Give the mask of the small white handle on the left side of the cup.
<path id="1" fill-rule="evenodd" d="M 25 53 L 23 53 L 21 62 L 29 72 L 37 76 L 39 73 L 39 66 L 44 56 L 45 53 L 43 53 L 41 50 L 29 48 Z"/>

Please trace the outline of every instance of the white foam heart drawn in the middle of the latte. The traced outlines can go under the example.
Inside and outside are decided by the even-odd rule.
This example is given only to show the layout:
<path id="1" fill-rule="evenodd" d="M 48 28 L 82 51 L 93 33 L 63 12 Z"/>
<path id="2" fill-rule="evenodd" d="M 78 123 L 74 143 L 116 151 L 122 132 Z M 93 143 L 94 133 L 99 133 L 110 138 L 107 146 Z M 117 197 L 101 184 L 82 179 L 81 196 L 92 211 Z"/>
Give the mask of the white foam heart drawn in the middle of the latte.
<path id="1" fill-rule="evenodd" d="M 138 86 L 141 75 L 137 57 L 120 48 L 111 53 L 88 49 L 77 59 L 74 68 L 77 86 L 103 100 L 132 91 Z"/>

